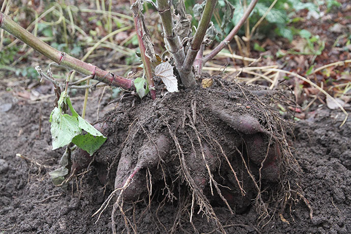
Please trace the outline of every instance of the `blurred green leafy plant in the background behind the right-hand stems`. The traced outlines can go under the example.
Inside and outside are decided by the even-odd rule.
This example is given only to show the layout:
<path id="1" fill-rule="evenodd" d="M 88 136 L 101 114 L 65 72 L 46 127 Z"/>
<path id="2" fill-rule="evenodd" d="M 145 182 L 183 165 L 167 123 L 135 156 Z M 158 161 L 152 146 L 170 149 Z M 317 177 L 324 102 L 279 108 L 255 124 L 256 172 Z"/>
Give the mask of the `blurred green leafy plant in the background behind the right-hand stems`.
<path id="1" fill-rule="evenodd" d="M 243 16 L 245 10 L 245 4 L 250 4 L 250 0 L 218 0 L 215 14 L 213 16 L 213 22 L 218 31 L 221 31 L 223 35 L 229 33 L 231 28 L 235 26 L 241 17 Z M 328 6 L 335 7 L 337 5 L 335 0 L 327 1 Z M 229 4 L 230 5 L 229 5 Z M 186 6 L 191 6 L 194 4 L 193 0 L 188 0 L 185 2 Z M 326 4 L 324 1 L 319 1 L 319 4 Z M 202 4 L 197 4 L 203 6 Z M 197 16 L 200 11 L 197 11 L 199 8 L 197 5 L 194 6 L 193 16 Z M 273 5 L 273 6 L 272 6 Z M 314 3 L 303 3 L 300 0 L 262 0 L 259 1 L 253 11 L 250 14 L 249 25 L 252 27 L 257 23 L 261 17 L 265 17 L 264 20 L 260 23 L 258 31 L 260 33 L 269 34 L 274 31 L 278 36 L 287 38 L 289 41 L 293 40 L 294 32 L 289 27 L 290 22 L 296 22 L 299 18 L 296 18 L 296 12 L 304 9 L 308 9 L 311 12 L 318 12 L 318 5 Z M 270 9 L 270 7 L 272 8 Z M 328 7 L 329 8 L 329 7 Z M 226 20 L 229 16 L 227 11 L 228 9 L 233 9 L 231 17 L 229 20 Z M 198 13 L 197 13 L 198 12 Z M 192 12 L 188 12 L 191 13 Z M 216 14 L 218 17 L 216 17 Z M 194 20 L 196 21 L 196 20 Z M 245 29 L 242 28 L 239 31 L 239 35 L 244 35 Z"/>

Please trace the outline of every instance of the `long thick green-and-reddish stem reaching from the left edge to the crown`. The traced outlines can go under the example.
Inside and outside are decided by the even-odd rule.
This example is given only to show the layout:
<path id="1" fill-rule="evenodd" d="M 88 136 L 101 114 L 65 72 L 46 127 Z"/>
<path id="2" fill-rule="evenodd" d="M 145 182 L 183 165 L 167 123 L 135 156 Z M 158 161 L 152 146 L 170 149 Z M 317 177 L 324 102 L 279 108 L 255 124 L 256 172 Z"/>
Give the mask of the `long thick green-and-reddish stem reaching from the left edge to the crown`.
<path id="1" fill-rule="evenodd" d="M 11 35 L 15 36 L 28 46 L 43 54 L 58 65 L 76 70 L 83 75 L 94 75 L 94 79 L 104 82 L 108 85 L 123 87 L 124 89 L 134 89 L 132 80 L 123 78 L 119 75 L 109 73 L 92 64 L 84 63 L 75 57 L 72 57 L 64 52 L 58 51 L 45 42 L 35 37 L 23 27 L 18 25 L 7 15 L 0 12 L 0 28 L 3 28 Z"/>

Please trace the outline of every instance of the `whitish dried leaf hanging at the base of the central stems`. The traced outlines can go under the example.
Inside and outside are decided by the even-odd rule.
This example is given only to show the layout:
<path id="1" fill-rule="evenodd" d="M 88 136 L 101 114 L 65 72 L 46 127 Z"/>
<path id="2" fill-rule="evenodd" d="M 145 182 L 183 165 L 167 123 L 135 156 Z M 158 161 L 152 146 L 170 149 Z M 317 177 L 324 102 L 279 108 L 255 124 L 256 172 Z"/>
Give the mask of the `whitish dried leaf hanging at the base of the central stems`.
<path id="1" fill-rule="evenodd" d="M 173 67 L 168 62 L 164 62 L 155 68 L 155 76 L 162 79 L 169 93 L 178 92 L 178 80 L 173 74 Z"/>

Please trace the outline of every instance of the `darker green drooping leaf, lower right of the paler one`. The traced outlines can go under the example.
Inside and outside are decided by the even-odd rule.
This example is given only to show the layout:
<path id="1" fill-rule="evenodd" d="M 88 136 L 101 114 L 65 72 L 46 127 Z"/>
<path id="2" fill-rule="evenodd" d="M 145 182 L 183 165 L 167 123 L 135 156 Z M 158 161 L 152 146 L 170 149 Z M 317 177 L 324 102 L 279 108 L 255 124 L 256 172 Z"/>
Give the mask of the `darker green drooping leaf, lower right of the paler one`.
<path id="1" fill-rule="evenodd" d="M 104 136 L 93 136 L 90 133 L 85 135 L 77 135 L 72 139 L 72 143 L 77 145 L 80 149 L 86 151 L 90 156 L 97 151 L 101 145 L 106 141 Z"/>

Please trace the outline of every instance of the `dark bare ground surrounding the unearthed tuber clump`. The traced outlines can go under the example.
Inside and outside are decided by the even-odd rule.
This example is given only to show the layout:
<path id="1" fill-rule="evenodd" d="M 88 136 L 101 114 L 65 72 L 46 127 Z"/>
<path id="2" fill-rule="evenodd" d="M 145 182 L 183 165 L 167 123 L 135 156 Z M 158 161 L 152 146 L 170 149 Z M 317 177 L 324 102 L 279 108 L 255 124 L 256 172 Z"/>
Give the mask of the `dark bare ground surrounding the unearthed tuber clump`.
<path id="1" fill-rule="evenodd" d="M 100 109 L 103 110 L 103 107 L 107 109 L 109 106 L 102 105 Z M 2 91 L 0 94 L 0 132 L 3 136 L 0 140 L 0 231 L 111 233 L 112 207 L 102 213 L 96 224 L 97 217 L 91 217 L 110 192 L 104 193 L 101 178 L 98 178 L 101 168 L 90 167 L 84 177 L 74 178 L 67 189 L 55 187 L 49 178 L 47 172 L 57 168 L 63 153 L 62 150 L 51 151 L 48 123 L 51 109 L 50 102 L 30 104 L 11 92 Z M 91 110 L 89 116 L 92 120 L 95 113 L 95 109 Z M 273 207 L 277 212 L 269 222 L 259 222 L 254 205 L 248 204 L 246 209 L 231 215 L 223 204 L 212 202 L 225 231 L 349 233 L 351 121 L 339 128 L 342 120 L 343 116 L 338 111 L 319 109 L 293 126 L 288 141 L 303 173 L 301 180 L 291 179 L 291 183 L 299 183 L 291 187 L 301 187 L 301 196 L 293 197 L 296 202 L 287 204 L 284 211 Z M 187 192 L 183 193 L 185 203 L 181 205 L 189 202 L 186 200 Z M 189 216 L 176 217 L 180 204 L 162 203 L 162 199 L 161 196 L 154 197 L 150 205 L 148 197 L 134 204 L 125 204 L 126 215 L 137 232 L 168 233 L 174 226 L 174 220 L 178 220 L 174 233 L 193 233 Z M 160 203 L 163 205 L 160 206 Z M 308 206 L 313 209 L 313 214 Z M 202 217 L 202 213 L 195 214 L 192 221 L 200 233 L 219 231 L 213 222 Z M 120 233 L 125 228 L 123 217 L 118 214 L 116 222 Z"/>

